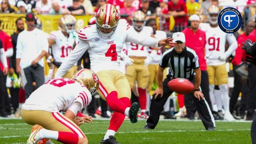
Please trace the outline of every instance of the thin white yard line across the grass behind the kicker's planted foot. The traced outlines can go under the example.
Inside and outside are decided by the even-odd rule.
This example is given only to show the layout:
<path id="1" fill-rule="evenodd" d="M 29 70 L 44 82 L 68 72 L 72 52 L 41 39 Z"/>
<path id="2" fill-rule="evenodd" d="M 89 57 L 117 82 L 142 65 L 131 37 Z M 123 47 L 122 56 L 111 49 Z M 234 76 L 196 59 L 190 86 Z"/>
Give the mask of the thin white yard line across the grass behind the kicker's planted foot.
<path id="1" fill-rule="evenodd" d="M 230 132 L 230 131 L 248 131 L 250 129 L 227 129 L 227 130 L 215 130 L 215 131 L 221 131 L 221 132 Z M 135 131 L 135 132 L 117 132 L 120 134 L 123 133 L 171 133 L 171 132 L 208 132 L 207 130 L 146 130 L 146 131 Z M 105 132 L 101 133 L 85 133 L 85 134 L 105 134 Z M 15 138 L 15 137 L 29 137 L 29 135 L 26 136 L 3 136 L 0 138 Z"/>

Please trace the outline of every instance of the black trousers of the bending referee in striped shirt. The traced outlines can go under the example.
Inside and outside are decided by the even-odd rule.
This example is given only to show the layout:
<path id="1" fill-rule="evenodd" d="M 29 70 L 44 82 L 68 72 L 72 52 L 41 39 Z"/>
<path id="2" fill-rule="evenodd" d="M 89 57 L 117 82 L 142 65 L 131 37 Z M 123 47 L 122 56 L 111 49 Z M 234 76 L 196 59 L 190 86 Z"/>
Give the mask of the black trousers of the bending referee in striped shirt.
<path id="1" fill-rule="evenodd" d="M 156 127 L 159 116 L 161 113 L 161 110 L 167 101 L 167 98 L 173 93 L 168 86 L 167 83 L 170 81 L 170 78 L 166 78 L 163 81 L 163 97 L 158 96 L 156 99 L 154 99 L 155 94 L 153 95 L 153 98 L 150 102 L 150 108 L 149 108 L 149 118 L 147 119 L 147 126 L 154 129 Z M 195 79 L 192 79 L 191 82 L 195 83 Z M 215 127 L 215 121 L 213 118 L 213 115 L 211 114 L 210 107 L 205 99 L 198 100 L 193 93 L 186 94 L 186 96 L 193 97 L 193 101 L 196 105 L 196 111 L 198 112 L 203 125 L 207 129 L 209 126 Z"/>

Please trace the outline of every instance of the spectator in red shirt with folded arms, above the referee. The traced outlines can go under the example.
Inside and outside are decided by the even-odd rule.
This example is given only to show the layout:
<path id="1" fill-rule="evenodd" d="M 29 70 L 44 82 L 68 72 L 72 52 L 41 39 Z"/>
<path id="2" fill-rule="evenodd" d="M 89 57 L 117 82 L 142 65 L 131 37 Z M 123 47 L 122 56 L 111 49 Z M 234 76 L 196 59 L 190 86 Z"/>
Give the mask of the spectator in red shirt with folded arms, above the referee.
<path id="1" fill-rule="evenodd" d="M 182 30 L 188 25 L 187 8 L 184 0 L 171 0 L 168 3 L 168 13 L 173 15 L 175 20 L 174 32 Z"/>

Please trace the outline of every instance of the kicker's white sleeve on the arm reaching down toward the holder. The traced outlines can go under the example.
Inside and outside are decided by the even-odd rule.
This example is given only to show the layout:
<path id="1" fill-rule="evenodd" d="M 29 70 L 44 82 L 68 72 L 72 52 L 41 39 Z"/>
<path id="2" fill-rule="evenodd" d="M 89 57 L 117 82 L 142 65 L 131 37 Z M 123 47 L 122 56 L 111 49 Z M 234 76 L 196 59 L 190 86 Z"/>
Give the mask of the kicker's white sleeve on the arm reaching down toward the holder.
<path id="1" fill-rule="evenodd" d="M 68 69 L 70 69 L 71 66 L 74 65 L 75 62 L 77 62 L 82 57 L 88 48 L 90 48 L 88 42 L 79 40 L 77 46 L 75 46 L 74 50 L 71 51 L 65 61 L 61 64 L 60 68 L 58 68 L 58 71 L 55 74 L 55 78 L 60 78 L 63 76 L 68 71 Z"/>

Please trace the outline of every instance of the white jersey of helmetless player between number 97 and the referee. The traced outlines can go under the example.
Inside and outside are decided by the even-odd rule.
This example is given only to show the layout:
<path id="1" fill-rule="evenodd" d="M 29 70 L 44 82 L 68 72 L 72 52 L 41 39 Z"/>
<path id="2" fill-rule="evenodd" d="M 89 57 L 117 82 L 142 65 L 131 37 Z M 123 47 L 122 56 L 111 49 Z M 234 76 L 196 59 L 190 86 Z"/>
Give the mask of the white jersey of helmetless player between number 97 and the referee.
<path id="1" fill-rule="evenodd" d="M 165 39 L 167 37 L 166 32 L 161 31 L 161 30 L 156 30 L 156 34 L 154 34 L 154 36 L 157 39 Z M 149 47 L 149 49 L 148 49 L 149 54 L 152 52 L 152 50 L 153 50 L 153 47 Z M 159 48 L 159 50 L 157 51 L 157 54 L 154 56 L 154 58 L 152 59 L 150 64 L 158 65 L 161 60 L 161 57 L 162 57 L 162 50 L 161 50 L 161 48 Z"/>

